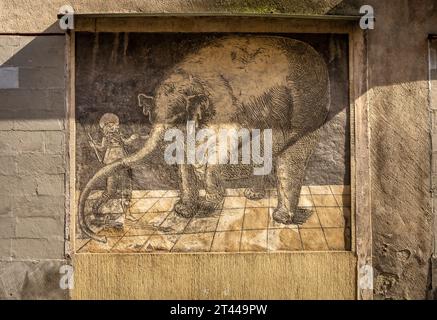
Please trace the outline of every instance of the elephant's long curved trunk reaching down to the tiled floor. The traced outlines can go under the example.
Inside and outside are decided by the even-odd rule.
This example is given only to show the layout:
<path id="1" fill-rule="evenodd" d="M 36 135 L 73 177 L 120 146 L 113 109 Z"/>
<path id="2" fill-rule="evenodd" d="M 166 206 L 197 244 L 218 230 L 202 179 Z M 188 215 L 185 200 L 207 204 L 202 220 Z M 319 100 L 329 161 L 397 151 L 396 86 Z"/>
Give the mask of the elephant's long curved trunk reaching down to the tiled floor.
<path id="1" fill-rule="evenodd" d="M 153 150 L 158 147 L 158 144 L 162 138 L 162 135 L 165 130 L 165 125 L 155 125 L 152 131 L 147 138 L 147 141 L 144 143 L 144 146 L 138 150 L 136 153 L 127 156 L 126 158 L 120 159 L 116 162 L 113 162 L 103 168 L 101 168 L 97 173 L 88 181 L 85 188 L 82 190 L 79 198 L 79 206 L 78 206 L 78 217 L 79 217 L 79 227 L 82 232 L 99 242 L 106 242 L 106 237 L 97 235 L 88 225 L 87 220 L 85 219 L 85 202 L 88 199 L 89 194 L 95 187 L 96 183 L 109 177 L 114 174 L 118 169 L 122 167 L 130 167 L 135 163 L 141 161 L 145 157 L 147 157 Z"/>

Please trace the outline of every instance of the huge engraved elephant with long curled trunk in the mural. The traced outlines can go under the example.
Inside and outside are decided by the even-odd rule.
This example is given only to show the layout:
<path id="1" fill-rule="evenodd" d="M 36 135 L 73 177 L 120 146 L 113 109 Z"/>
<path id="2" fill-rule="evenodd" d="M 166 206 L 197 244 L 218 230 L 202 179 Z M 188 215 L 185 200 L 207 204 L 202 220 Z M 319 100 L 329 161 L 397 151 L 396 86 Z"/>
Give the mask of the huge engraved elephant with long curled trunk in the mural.
<path id="1" fill-rule="evenodd" d="M 313 47 L 280 36 L 215 38 L 175 64 L 153 95 L 140 94 L 138 99 L 152 123 L 149 137 L 136 153 L 101 168 L 82 190 L 78 215 L 86 236 L 106 241 L 85 219 L 85 202 L 96 183 L 116 170 L 147 160 L 162 147 L 167 129 L 185 130 L 187 121 L 202 128 L 271 129 L 278 195 L 273 219 L 291 223 L 300 210 L 305 169 L 330 106 L 328 68 Z M 214 208 L 223 199 L 220 170 L 220 165 L 207 167 L 206 196 L 199 197 L 193 165 L 180 164 L 180 199 L 174 211 L 189 218 L 199 210 Z M 263 197 L 262 185 L 248 188 L 246 197 Z"/>

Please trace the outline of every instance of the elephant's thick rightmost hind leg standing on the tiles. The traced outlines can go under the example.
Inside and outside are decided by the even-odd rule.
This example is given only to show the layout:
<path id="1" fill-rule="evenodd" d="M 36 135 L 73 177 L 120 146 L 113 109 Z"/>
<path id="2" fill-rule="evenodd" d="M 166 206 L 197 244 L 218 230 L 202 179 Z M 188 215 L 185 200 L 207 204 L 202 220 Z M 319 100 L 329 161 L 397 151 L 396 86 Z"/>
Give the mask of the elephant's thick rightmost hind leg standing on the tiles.
<path id="1" fill-rule="evenodd" d="M 304 210 L 297 207 L 300 190 L 305 169 L 318 141 L 319 132 L 311 132 L 279 155 L 276 163 L 278 206 L 273 212 L 275 221 L 290 224 L 294 222 L 298 210 Z"/>

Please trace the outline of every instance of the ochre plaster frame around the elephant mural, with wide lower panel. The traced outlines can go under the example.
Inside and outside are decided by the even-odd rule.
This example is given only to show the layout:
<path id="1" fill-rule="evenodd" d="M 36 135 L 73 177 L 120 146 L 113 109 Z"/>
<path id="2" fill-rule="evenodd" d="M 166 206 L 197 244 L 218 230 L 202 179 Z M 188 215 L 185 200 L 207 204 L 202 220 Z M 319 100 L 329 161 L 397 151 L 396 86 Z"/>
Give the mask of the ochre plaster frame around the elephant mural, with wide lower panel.
<path id="1" fill-rule="evenodd" d="M 293 19 L 291 17 L 136 17 L 136 16 L 78 16 L 75 21 L 76 29 L 67 33 L 67 107 L 68 107 L 68 146 L 69 146 L 69 185 L 67 188 L 69 212 L 67 212 L 67 256 L 73 257 L 75 263 L 76 289 L 73 291 L 75 298 L 149 298 L 149 299 L 195 299 L 195 298 L 338 298 L 338 299 L 372 299 L 373 274 L 372 274 L 372 232 L 371 232 L 371 206 L 370 206 L 370 156 L 369 156 L 369 128 L 368 128 L 368 99 L 367 99 L 367 48 L 366 34 L 359 28 L 358 22 L 349 20 L 328 21 L 324 19 Z M 290 253 L 250 253 L 250 254 L 74 254 L 74 226 L 75 222 L 75 32 L 251 32 L 251 33 L 342 33 L 349 35 L 349 88 L 351 110 L 351 194 L 352 194 L 352 251 L 351 252 L 290 252 Z M 260 262 L 264 256 L 266 262 Z M 325 265 L 317 265 L 319 262 Z M 337 260 L 336 260 L 337 259 Z M 315 279 L 300 277 L 299 272 L 291 271 L 289 275 L 274 277 L 257 268 L 263 265 L 271 269 L 283 269 L 284 266 L 308 272 L 305 268 L 311 268 L 310 274 L 316 274 Z M 161 266 L 157 281 L 141 280 L 141 273 L 135 268 L 129 268 L 131 274 L 126 275 L 124 280 L 117 284 L 111 278 L 111 273 L 117 271 L 117 266 L 122 264 L 135 266 L 142 265 L 145 268 Z M 247 264 L 253 264 L 254 269 L 248 269 Z M 177 270 L 177 277 L 172 278 L 172 284 L 163 283 L 164 277 L 175 274 L 169 271 Z M 199 266 L 209 267 L 210 275 L 198 274 Z M 264 286 L 255 286 L 255 294 L 251 292 L 244 295 L 241 292 L 244 279 L 232 277 L 233 281 L 240 284 L 232 285 L 226 279 L 217 282 L 217 277 L 223 273 L 221 268 L 235 267 L 246 273 L 254 273 L 255 279 L 263 274 L 265 277 L 261 283 Z M 96 268 L 103 270 L 102 281 L 95 281 Z M 314 269 L 314 270 L 313 270 Z M 195 270 L 195 274 L 192 271 Z M 332 270 L 337 274 L 332 275 Z M 315 273 L 314 273 L 314 272 Z M 191 274 L 190 274 L 191 272 Z M 323 278 L 318 278 L 324 275 Z M 197 287 L 189 281 L 194 277 L 202 277 L 197 281 Z M 252 276 L 250 278 L 253 278 Z M 216 281 L 214 281 L 216 280 Z M 268 281 L 295 281 L 295 286 L 270 285 Z M 121 284 L 120 281 L 124 283 Z M 199 292 L 206 283 L 213 282 L 213 290 L 204 295 Z M 326 282 L 326 288 L 319 284 Z M 132 289 L 129 282 L 141 282 Z M 157 290 L 160 284 L 162 292 L 144 292 L 144 290 Z M 170 287 L 171 285 L 171 287 Z M 100 287 L 99 287 L 100 286 Z M 117 289 L 114 289 L 117 286 Z M 185 286 L 185 287 L 184 287 Z M 267 286 L 268 288 L 266 288 Z M 343 286 L 343 287 L 342 287 Z M 120 287 L 122 289 L 120 289 Z M 178 288 L 177 290 L 175 287 Z M 335 288 L 346 290 L 347 294 L 336 292 Z M 111 293 L 111 288 L 115 291 Z M 269 289 L 270 288 L 270 289 Z M 278 292 L 284 290 L 284 292 Z M 226 295 L 226 291 L 237 290 Z M 133 290 L 133 291 L 132 291 Z M 150 291 L 149 290 L 149 291 Z M 197 290 L 197 291 L 196 291 Z M 202 289 L 203 290 L 203 289 Z M 238 290 L 240 290 L 238 292 Z M 287 292 L 289 290 L 289 294 Z M 321 292 L 311 292 L 321 290 Z M 351 291 L 352 290 L 352 291 Z M 270 296 L 265 296 L 265 292 Z"/>

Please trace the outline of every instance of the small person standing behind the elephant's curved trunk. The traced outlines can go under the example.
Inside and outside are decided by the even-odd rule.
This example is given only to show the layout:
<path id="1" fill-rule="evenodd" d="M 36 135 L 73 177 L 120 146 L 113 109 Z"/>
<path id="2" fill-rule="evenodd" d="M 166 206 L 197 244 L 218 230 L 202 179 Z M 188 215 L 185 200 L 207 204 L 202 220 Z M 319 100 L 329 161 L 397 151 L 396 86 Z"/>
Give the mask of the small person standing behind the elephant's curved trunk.
<path id="1" fill-rule="evenodd" d="M 120 120 L 113 113 L 105 113 L 99 121 L 99 126 L 103 134 L 100 143 L 96 143 L 91 137 L 90 146 L 95 150 L 96 156 L 103 164 L 108 165 L 119 161 L 127 156 L 125 146 L 132 144 L 139 139 L 138 134 L 133 134 L 129 138 L 124 138 L 120 132 Z M 103 159 L 99 152 L 103 152 Z M 119 172 L 114 172 L 106 178 L 106 189 L 102 196 L 94 203 L 93 213 L 95 219 L 93 224 L 96 226 L 122 228 L 124 219 L 134 221 L 135 217 L 130 212 L 130 200 L 132 197 L 132 172 L 129 168 L 124 168 Z M 105 204 L 109 204 L 111 199 L 121 199 L 121 206 L 124 214 L 111 215 L 102 212 Z M 116 211 L 114 208 L 109 211 Z"/>

